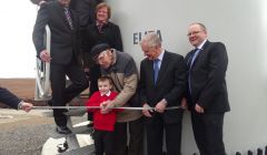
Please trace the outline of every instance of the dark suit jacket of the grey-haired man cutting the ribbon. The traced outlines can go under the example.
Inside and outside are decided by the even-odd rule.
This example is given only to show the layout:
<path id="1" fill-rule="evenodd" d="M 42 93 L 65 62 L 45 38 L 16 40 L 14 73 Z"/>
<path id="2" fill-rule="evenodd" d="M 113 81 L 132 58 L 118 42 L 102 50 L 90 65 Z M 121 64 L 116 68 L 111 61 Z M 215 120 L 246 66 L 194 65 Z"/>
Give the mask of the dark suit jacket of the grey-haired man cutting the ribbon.
<path id="1" fill-rule="evenodd" d="M 154 84 L 154 61 L 145 59 L 140 64 L 140 97 L 150 106 L 166 99 L 168 106 L 180 105 L 186 91 L 186 63 L 181 55 L 165 52 L 156 85 Z M 155 113 L 148 123 L 177 123 L 181 121 L 182 110 L 169 110 L 162 114 Z"/>

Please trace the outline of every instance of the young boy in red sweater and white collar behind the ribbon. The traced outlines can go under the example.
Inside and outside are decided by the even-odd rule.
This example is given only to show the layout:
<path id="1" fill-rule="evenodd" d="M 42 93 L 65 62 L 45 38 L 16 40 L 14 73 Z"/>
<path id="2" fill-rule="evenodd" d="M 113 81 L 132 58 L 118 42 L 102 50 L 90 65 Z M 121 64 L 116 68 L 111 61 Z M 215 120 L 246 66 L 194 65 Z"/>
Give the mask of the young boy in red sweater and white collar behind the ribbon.
<path id="1" fill-rule="evenodd" d="M 107 114 L 101 114 L 100 108 L 90 108 L 90 106 L 105 106 L 105 102 L 113 100 L 116 92 L 111 92 L 112 81 L 108 76 L 98 79 L 99 91 L 95 92 L 88 100 L 88 111 L 93 113 L 93 140 L 96 155 L 115 155 L 115 123 L 116 113 L 121 110 L 112 110 Z"/>

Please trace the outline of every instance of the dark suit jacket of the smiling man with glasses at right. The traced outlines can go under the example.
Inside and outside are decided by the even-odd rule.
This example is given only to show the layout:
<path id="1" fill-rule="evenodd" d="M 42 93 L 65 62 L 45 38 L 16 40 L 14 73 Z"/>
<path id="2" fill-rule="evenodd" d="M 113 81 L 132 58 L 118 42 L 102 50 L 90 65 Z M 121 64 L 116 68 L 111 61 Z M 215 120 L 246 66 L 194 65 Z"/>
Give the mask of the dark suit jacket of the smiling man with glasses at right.
<path id="1" fill-rule="evenodd" d="M 186 55 L 186 62 L 194 51 Z M 225 44 L 207 41 L 191 65 L 191 94 L 187 91 L 189 108 L 194 110 L 198 103 L 206 113 L 227 112 L 230 110 L 226 87 L 226 70 L 228 58 Z"/>

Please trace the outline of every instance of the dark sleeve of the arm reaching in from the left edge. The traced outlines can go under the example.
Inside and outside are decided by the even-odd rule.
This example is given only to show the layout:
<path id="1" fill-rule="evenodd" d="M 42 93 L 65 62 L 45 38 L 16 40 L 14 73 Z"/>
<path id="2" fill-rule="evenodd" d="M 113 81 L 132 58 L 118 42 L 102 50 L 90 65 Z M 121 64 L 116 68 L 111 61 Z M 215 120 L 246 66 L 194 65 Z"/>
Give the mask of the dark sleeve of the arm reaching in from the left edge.
<path id="1" fill-rule="evenodd" d="M 0 87 L 0 102 L 13 108 L 18 108 L 21 100 L 11 92 L 9 92 L 7 89 Z"/>

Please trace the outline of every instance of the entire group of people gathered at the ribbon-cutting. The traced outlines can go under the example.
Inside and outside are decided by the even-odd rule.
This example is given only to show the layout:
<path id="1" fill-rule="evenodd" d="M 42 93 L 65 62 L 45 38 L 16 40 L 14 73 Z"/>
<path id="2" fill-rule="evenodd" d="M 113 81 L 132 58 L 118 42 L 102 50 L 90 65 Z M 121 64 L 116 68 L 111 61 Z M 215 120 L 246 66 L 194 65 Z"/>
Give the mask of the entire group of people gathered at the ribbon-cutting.
<path id="1" fill-rule="evenodd" d="M 49 105 L 65 106 L 90 87 L 86 105 L 93 115 L 90 118 L 96 130 L 97 155 L 142 155 L 144 135 L 148 155 L 164 154 L 164 137 L 167 155 L 180 155 L 186 107 L 191 114 L 199 153 L 226 154 L 224 115 L 230 111 L 225 80 L 227 51 L 221 42 L 208 41 L 202 23 L 189 25 L 188 39 L 195 49 L 185 59 L 165 50 L 156 33 L 146 34 L 140 42 L 145 59 L 139 74 L 134 58 L 122 52 L 119 27 L 109 21 L 110 7 L 106 2 L 95 3 L 95 17 L 83 21 L 79 13 L 82 11 L 71 8 L 70 3 L 71 0 L 41 2 L 32 39 L 37 56 L 50 62 L 52 99 Z M 51 30 L 50 53 L 43 44 L 46 25 Z M 71 81 L 68 86 L 66 75 Z M 1 97 L 7 93 L 0 89 Z M 130 107 L 136 95 L 140 97 L 142 111 L 117 108 Z M 3 99 L 7 101 L 11 99 Z M 32 107 L 14 96 L 10 105 L 24 111 Z M 53 110 L 56 131 L 70 134 L 63 112 Z"/>

